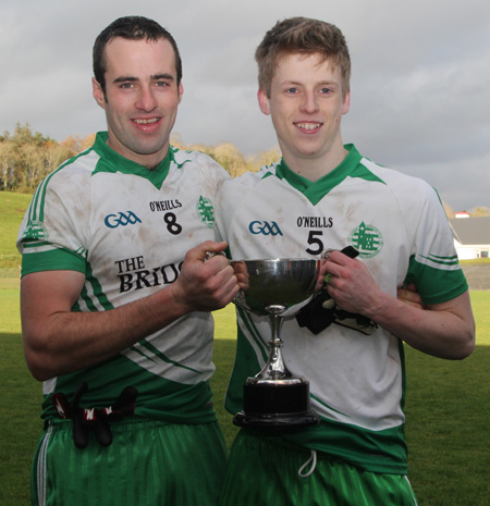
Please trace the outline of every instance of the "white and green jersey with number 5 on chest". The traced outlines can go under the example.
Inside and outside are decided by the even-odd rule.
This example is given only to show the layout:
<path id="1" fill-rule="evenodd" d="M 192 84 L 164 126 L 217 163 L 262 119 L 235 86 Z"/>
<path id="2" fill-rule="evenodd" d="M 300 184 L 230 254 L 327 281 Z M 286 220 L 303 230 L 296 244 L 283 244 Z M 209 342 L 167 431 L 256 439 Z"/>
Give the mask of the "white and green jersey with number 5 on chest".
<path id="1" fill-rule="evenodd" d="M 437 193 L 424 181 L 384 169 L 352 145 L 345 160 L 311 183 L 281 161 L 226 182 L 217 199 L 220 235 L 231 258 L 319 258 L 348 245 L 380 287 L 415 282 L 426 304 L 467 289 Z M 237 356 L 226 408 L 243 409 L 243 383 L 267 360 L 270 325 L 237 310 Z M 318 427 L 287 440 L 375 472 L 405 473 L 403 345 L 378 328 L 372 335 L 332 324 L 318 335 L 286 319 L 286 367 L 310 383 Z"/>

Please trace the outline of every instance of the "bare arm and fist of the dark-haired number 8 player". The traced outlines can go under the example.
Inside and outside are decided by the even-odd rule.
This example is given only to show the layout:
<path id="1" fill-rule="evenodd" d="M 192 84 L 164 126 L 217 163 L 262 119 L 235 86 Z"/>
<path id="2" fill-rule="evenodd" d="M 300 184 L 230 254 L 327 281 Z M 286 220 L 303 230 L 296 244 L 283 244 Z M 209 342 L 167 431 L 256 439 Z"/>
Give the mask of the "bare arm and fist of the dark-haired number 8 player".
<path id="1" fill-rule="evenodd" d="M 206 242 L 185 256 L 177 280 L 140 300 L 100 312 L 73 312 L 84 274 L 45 271 L 21 283 L 24 353 L 40 381 L 91 367 L 134 345 L 192 311 L 212 311 L 238 292 L 233 268 L 221 255 L 205 261 L 206 251 L 225 243 Z"/>

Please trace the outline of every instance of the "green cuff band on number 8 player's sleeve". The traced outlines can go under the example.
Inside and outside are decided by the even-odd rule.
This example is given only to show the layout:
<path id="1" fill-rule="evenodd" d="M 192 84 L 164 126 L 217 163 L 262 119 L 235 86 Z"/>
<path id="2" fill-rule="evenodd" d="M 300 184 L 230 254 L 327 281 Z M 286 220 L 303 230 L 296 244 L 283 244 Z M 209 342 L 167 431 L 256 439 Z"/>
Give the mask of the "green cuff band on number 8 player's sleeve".
<path id="1" fill-rule="evenodd" d="M 68 249 L 24 254 L 22 276 L 42 271 L 78 271 L 85 274 L 85 259 Z"/>

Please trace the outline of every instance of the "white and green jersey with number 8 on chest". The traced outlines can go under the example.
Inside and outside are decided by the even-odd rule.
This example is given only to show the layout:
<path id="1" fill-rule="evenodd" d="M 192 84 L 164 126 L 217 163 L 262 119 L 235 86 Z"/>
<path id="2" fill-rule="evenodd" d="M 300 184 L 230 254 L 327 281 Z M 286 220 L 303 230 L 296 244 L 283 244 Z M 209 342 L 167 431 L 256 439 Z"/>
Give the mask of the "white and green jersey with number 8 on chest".
<path id="1" fill-rule="evenodd" d="M 229 178 L 211 158 L 171 147 L 152 171 L 107 146 L 107 133 L 39 185 L 22 223 L 17 247 L 23 275 L 75 270 L 85 286 L 74 311 L 106 311 L 173 283 L 185 252 L 216 239 L 213 200 Z M 164 308 L 162 308 L 164 311 Z M 69 400 L 83 383 L 83 407 L 107 407 L 135 386 L 136 415 L 176 422 L 216 419 L 209 378 L 213 321 L 189 313 L 105 363 L 45 382 Z"/>

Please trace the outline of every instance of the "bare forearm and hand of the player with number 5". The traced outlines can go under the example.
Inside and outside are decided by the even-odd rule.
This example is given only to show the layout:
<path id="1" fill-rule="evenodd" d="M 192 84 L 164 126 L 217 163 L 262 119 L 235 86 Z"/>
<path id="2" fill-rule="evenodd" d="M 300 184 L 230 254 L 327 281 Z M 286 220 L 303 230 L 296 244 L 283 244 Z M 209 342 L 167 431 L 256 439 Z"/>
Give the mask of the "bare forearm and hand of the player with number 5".
<path id="1" fill-rule="evenodd" d="M 461 359 L 473 351 L 475 321 L 468 292 L 425 310 L 385 294 L 363 262 L 340 251 L 330 255 L 324 269 L 331 274 L 329 294 L 340 308 L 366 316 L 412 347 L 436 357 Z"/>

